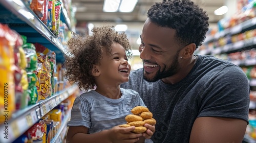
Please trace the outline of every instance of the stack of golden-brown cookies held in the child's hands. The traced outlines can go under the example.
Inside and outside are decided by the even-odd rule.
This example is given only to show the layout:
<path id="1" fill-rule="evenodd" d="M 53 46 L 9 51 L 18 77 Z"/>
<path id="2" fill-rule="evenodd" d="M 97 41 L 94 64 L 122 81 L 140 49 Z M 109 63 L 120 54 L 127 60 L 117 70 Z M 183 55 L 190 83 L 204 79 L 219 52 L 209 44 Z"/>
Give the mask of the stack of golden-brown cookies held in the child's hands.
<path id="1" fill-rule="evenodd" d="M 125 121 L 127 124 L 119 125 L 119 127 L 131 127 L 135 126 L 135 133 L 143 133 L 147 130 L 144 127 L 144 124 L 150 124 L 152 126 L 156 125 L 156 120 L 153 118 L 152 112 L 148 110 L 148 108 L 143 106 L 134 107 L 131 112 L 133 114 L 129 114 L 125 117 Z"/>

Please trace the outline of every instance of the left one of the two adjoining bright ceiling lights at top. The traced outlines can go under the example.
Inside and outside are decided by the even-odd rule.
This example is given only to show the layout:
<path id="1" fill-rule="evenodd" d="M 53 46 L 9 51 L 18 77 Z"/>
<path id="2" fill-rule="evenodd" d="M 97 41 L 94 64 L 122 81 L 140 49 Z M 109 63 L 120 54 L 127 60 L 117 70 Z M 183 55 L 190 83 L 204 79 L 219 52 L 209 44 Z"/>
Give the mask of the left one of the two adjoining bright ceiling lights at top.
<path id="1" fill-rule="evenodd" d="M 120 0 L 105 0 L 103 5 L 104 12 L 117 12 Z"/>

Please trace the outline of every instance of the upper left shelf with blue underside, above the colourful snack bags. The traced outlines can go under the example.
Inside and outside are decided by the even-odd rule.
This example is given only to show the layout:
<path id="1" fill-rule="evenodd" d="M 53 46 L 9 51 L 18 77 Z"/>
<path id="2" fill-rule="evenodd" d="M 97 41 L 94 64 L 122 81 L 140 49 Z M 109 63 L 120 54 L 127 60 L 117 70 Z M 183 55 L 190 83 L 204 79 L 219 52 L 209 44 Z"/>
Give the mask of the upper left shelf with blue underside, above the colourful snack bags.
<path id="1" fill-rule="evenodd" d="M 28 42 L 38 42 L 54 51 L 57 62 L 65 60 L 63 58 L 65 47 L 22 0 L 0 1 L 0 22 L 7 23 L 11 29 L 27 36 Z"/>

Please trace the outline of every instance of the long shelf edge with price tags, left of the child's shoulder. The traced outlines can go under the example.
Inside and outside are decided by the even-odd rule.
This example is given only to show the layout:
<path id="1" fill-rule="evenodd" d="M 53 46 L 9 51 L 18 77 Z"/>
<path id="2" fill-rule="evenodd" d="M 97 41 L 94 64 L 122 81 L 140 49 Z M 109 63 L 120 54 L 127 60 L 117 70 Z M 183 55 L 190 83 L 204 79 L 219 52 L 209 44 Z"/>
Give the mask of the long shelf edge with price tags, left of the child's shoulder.
<path id="1" fill-rule="evenodd" d="M 15 140 L 30 127 L 32 127 L 42 116 L 71 96 L 76 89 L 76 85 L 71 86 L 54 94 L 51 98 L 40 101 L 35 105 L 28 106 L 25 109 L 18 110 L 17 112 L 13 113 L 12 118 L 8 121 L 8 125 L 0 125 L 0 134 L 3 135 L 5 133 L 4 129 L 6 129 L 6 126 L 8 129 L 6 134 L 8 135 L 8 139 L 1 137 L 0 142 L 8 143 Z"/>

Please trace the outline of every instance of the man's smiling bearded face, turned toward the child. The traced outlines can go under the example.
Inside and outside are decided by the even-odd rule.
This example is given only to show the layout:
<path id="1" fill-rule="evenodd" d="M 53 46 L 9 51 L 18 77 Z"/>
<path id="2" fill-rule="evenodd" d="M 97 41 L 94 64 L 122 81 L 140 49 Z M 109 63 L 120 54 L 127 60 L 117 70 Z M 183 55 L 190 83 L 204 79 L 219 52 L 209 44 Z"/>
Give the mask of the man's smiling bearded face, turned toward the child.
<path id="1" fill-rule="evenodd" d="M 154 82 L 173 76 L 179 71 L 178 58 L 181 48 L 175 33 L 174 29 L 159 27 L 149 19 L 145 21 L 139 46 L 145 80 Z"/>

